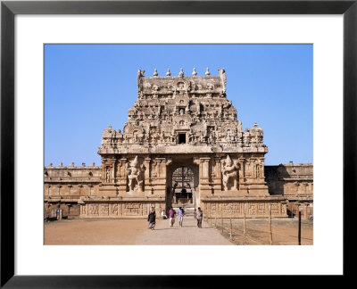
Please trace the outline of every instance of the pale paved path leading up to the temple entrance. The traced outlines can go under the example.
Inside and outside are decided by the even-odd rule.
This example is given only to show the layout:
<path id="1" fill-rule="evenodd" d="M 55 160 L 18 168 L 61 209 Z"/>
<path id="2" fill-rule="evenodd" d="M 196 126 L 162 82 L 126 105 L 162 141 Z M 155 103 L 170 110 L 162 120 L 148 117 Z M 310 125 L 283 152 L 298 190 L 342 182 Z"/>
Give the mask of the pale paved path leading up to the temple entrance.
<path id="1" fill-rule="evenodd" d="M 137 238 L 136 244 L 170 244 L 170 245 L 227 245 L 230 243 L 216 229 L 203 221 L 198 228 L 193 217 L 185 217 L 183 226 L 179 227 L 179 219 L 170 227 L 169 219 L 156 219 L 154 230 L 147 229 L 145 234 Z"/>

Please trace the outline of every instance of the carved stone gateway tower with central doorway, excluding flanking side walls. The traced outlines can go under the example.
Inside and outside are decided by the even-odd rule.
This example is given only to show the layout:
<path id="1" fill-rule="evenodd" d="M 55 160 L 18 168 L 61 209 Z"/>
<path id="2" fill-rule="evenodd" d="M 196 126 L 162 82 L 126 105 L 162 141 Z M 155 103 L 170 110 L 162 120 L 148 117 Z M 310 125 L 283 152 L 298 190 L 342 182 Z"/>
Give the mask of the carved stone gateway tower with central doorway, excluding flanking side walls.
<path id="1" fill-rule="evenodd" d="M 129 120 L 122 131 L 109 126 L 103 132 L 97 199 L 83 198 L 83 204 L 101 200 L 120 216 L 143 216 L 150 207 L 175 205 L 180 186 L 182 194 L 190 192 L 189 202 L 181 200 L 187 207 L 200 206 L 212 216 L 239 217 L 244 210 L 266 216 L 269 204 L 276 216 L 284 216 L 286 207 L 266 186 L 262 128 L 255 123 L 242 129 L 227 99 L 226 71 L 218 71 L 197 76 L 194 69 L 186 76 L 181 69 L 171 76 L 168 70 L 160 77 L 154 70 L 153 77 L 145 77 L 145 70 L 138 70 Z M 181 168 L 190 181 L 178 177 Z"/>

